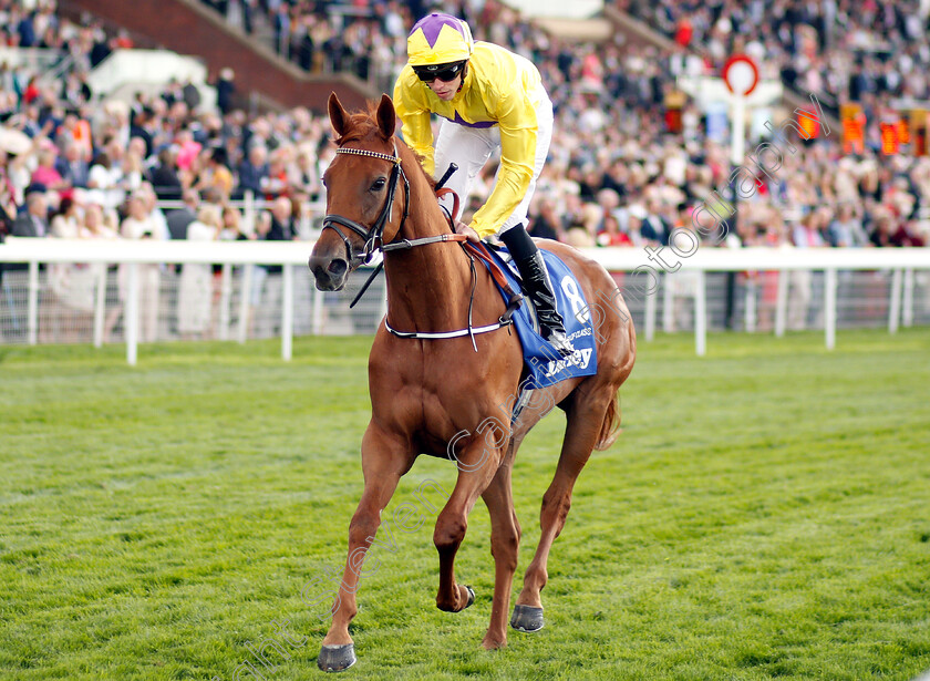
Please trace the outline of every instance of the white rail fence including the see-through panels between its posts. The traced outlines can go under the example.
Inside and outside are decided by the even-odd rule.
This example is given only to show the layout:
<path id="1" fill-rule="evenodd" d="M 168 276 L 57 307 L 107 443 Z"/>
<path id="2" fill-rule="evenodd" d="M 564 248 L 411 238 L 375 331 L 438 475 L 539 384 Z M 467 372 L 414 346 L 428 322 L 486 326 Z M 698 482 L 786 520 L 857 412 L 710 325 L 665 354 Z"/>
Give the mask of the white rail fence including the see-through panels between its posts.
<path id="1" fill-rule="evenodd" d="M 0 245 L 0 262 L 27 264 L 27 269 L 4 272 L 0 342 L 61 342 L 43 330 L 43 320 L 46 326 L 60 323 L 66 306 L 56 303 L 62 298 L 56 272 L 69 267 L 83 268 L 79 307 L 89 337 L 79 334 L 71 341 L 91 340 L 100 347 L 121 328 L 130 364 L 137 361 L 141 340 L 184 338 L 180 320 L 195 308 L 203 312 L 193 337 L 245 342 L 280 334 L 286 360 L 292 355 L 294 334 L 373 331 L 386 311 L 383 277 L 350 312 L 348 302 L 368 272 L 356 272 L 348 291 L 317 291 L 307 269 L 312 247 L 309 241 L 10 238 Z M 613 274 L 641 337 L 652 339 L 659 320 L 665 331 L 693 329 L 699 355 L 706 352 L 709 327 L 723 328 L 727 321 L 776 336 L 788 329 L 823 328 L 828 349 L 836 344 L 838 323 L 887 321 L 890 333 L 901 324 L 930 323 L 926 248 L 703 248 L 689 258 L 669 255 L 665 267 L 674 272 L 639 248 L 586 254 Z M 193 267 L 177 275 L 165 264 Z M 218 270 L 215 278 L 209 266 Z M 265 266 L 271 266 L 272 274 Z M 185 297 L 190 286 L 200 289 L 196 298 Z"/>

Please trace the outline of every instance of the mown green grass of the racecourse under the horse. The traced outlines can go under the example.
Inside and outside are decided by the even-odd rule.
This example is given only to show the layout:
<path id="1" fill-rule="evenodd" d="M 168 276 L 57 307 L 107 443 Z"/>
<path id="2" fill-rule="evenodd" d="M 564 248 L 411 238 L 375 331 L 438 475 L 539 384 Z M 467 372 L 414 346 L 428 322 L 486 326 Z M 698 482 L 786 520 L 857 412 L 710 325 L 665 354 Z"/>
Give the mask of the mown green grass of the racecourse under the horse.
<path id="1" fill-rule="evenodd" d="M 623 433 L 576 487 L 546 629 L 479 643 L 487 510 L 435 608 L 433 515 L 362 580 L 348 679 L 901 679 L 930 668 L 930 330 L 641 343 Z M 0 678 L 322 678 L 301 588 L 341 570 L 361 492 L 370 339 L 0 348 Z M 523 570 L 564 420 L 515 468 Z M 391 508 L 448 462 L 422 457 Z M 385 516 L 386 517 L 386 516 Z M 319 610 L 319 609 L 318 609 Z M 279 637 L 280 640 L 280 637 Z M 272 656 L 273 657 L 273 656 Z M 251 678 L 251 677 L 244 677 Z"/>

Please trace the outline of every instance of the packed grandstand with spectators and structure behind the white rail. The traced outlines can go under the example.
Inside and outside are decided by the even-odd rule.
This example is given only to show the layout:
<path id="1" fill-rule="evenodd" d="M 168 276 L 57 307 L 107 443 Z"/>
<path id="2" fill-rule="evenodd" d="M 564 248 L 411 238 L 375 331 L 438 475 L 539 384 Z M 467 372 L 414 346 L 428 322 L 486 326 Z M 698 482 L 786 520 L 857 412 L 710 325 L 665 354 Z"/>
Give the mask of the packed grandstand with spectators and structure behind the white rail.
<path id="1" fill-rule="evenodd" d="M 534 234 L 592 249 L 669 247 L 672 231 L 723 188 L 735 213 L 725 239 L 702 240 L 709 248 L 930 245 L 927 3 L 619 0 L 557 21 L 497 0 L 455 6 L 476 38 L 530 58 L 552 96 L 556 132 L 531 209 Z M 0 3 L 0 229 L 19 223 L 19 234 L 43 238 L 175 239 L 203 233 L 203 208 L 219 206 L 208 238 L 312 240 L 324 198 L 319 177 L 333 151 L 326 97 L 334 90 L 361 105 L 391 92 L 406 33 L 430 7 Z M 707 94 L 721 91 L 721 68 L 735 53 L 755 60 L 764 86 L 747 114 L 747 148 L 771 135 L 766 123 L 804 133 L 792 133 L 795 151 L 777 173 L 756 172 L 752 196 L 742 198 L 728 180 L 730 110 Z M 826 125 L 803 115 L 812 94 Z M 469 208 L 492 179 L 484 177 Z M 216 267 L 215 277 L 199 279 L 184 276 L 193 265 L 149 266 L 143 340 L 279 333 L 290 271 L 282 264 Z M 90 342 L 101 305 L 101 340 L 124 339 L 126 266 L 117 265 L 4 265 L 2 342 Z M 376 293 L 366 311 L 350 314 L 334 296 L 310 306 L 311 282 L 301 270 L 296 276 L 298 333 L 370 331 L 380 318 Z M 823 327 L 826 279 L 790 277 L 788 327 Z M 927 277 L 840 272 L 839 326 L 887 323 L 896 296 L 905 296 L 906 323 L 927 323 Z M 773 328 L 778 278 L 709 276 L 710 327 Z M 691 330 L 693 278 L 660 279 L 663 328 Z M 200 282 L 195 298 L 208 310 L 184 330 L 183 280 Z"/>

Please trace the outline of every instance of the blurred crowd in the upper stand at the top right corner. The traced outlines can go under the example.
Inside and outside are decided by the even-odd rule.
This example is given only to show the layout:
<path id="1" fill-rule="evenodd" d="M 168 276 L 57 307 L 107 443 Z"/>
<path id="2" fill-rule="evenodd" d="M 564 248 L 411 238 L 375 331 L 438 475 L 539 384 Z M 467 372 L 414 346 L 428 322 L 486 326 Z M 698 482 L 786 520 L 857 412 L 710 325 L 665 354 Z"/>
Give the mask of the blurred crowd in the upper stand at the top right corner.
<path id="1" fill-rule="evenodd" d="M 919 0 L 614 0 L 716 66 L 745 52 L 769 78 L 834 102 L 930 95 L 930 7 Z"/>

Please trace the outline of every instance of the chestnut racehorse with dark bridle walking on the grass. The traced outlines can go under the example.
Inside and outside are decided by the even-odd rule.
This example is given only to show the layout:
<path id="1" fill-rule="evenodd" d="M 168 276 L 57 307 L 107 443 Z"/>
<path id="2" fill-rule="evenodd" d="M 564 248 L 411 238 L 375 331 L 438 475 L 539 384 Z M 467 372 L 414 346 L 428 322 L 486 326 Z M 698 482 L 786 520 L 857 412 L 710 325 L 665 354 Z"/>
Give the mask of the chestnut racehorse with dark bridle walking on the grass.
<path id="1" fill-rule="evenodd" d="M 432 180 L 415 154 L 394 136 L 393 102 L 385 94 L 368 113 L 350 115 L 333 93 L 329 116 L 339 148 L 323 176 L 328 215 L 310 269 L 317 288 L 339 290 L 372 250 L 383 249 L 388 314 L 369 357 L 372 414 L 362 437 L 364 491 L 349 526 L 349 557 L 317 663 L 338 671 L 355 662 L 349 623 L 356 612 L 360 564 L 381 524 L 381 512 L 421 453 L 454 457 L 458 467 L 433 533 L 440 554 L 436 606 L 458 612 L 474 601 L 471 587 L 456 581 L 454 561 L 468 514 L 480 496 L 490 514 L 495 564 L 490 625 L 483 646 L 500 648 L 507 644 L 520 539 L 510 489 L 517 448 L 548 406 L 565 411 L 561 454 L 542 497 L 539 546 L 510 622 L 516 629 L 535 631 L 542 627 L 539 592 L 546 586 L 549 550 L 565 525 L 575 481 L 591 451 L 607 448 L 616 437 L 618 390 L 636 358 L 633 324 L 617 285 L 600 265 L 568 246 L 539 241 L 540 248 L 565 260 L 588 301 L 611 305 L 598 307 L 597 374 L 533 390 L 512 424 L 500 405 L 513 404 L 520 395 L 525 373 L 519 339 L 508 329 L 496 330 L 504 301 L 486 268 L 478 265 L 473 271 L 469 256 L 456 243 L 461 238 L 451 233 L 436 202 Z M 389 330 L 389 323 L 404 332 L 473 329 L 475 334 L 403 338 Z M 482 327 L 487 332 L 480 332 Z M 489 423 L 495 427 L 488 430 Z"/>

